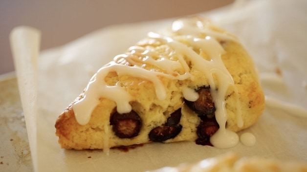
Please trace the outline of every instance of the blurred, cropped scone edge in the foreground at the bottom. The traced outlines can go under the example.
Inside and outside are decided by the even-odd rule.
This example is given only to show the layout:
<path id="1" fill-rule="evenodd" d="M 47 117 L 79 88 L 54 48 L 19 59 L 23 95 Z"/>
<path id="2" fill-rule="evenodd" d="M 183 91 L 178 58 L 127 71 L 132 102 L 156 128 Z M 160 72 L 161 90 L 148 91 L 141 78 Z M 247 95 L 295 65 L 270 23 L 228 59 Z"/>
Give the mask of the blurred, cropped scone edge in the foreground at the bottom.
<path id="1" fill-rule="evenodd" d="M 307 172 L 307 164 L 257 156 L 242 157 L 229 152 L 194 164 L 183 163 L 148 172 Z"/>

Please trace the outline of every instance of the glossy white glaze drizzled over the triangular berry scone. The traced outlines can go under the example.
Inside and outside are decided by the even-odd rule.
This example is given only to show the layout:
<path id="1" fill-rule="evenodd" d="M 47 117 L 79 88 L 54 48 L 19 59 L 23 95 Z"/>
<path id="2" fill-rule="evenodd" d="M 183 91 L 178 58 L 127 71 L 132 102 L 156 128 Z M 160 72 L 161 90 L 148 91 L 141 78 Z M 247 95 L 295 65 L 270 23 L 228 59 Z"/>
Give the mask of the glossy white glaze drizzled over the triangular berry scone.
<path id="1" fill-rule="evenodd" d="M 108 86 L 105 82 L 105 77 L 109 72 L 116 72 L 118 76 L 131 75 L 132 77 L 151 81 L 154 84 L 157 98 L 163 100 L 166 98 L 166 90 L 158 76 L 174 80 L 194 79 L 193 75 L 190 74 L 189 65 L 184 60 L 185 57 L 193 63 L 197 70 L 204 73 L 211 87 L 211 94 L 217 109 L 215 112 L 216 119 L 219 123 L 219 130 L 211 137 L 211 143 L 218 148 L 235 146 L 239 141 L 239 136 L 225 127 L 227 115 L 224 98 L 227 90 L 232 87 L 237 96 L 237 121 L 240 127 L 243 125 L 243 121 L 241 119 L 239 94 L 233 78 L 221 60 L 221 55 L 224 53 L 224 50 L 216 39 L 236 41 L 236 38 L 224 33 L 209 30 L 205 27 L 206 24 L 207 23 L 197 19 L 183 19 L 174 22 L 173 31 L 169 35 L 152 32 L 148 34 L 150 38 L 169 45 L 174 50 L 178 61 L 172 61 L 168 58 L 161 57 L 157 53 L 139 46 L 132 46 L 128 53 L 116 56 L 114 62 L 110 62 L 102 67 L 92 77 L 84 92 L 84 97 L 72 106 L 78 123 L 81 125 L 88 123 L 90 114 L 99 103 L 99 98 L 101 97 L 113 100 L 117 104 L 117 111 L 119 113 L 131 111 L 132 107 L 129 102 L 132 101 L 133 98 L 129 93 L 120 86 L 120 83 L 117 83 L 115 86 Z M 201 38 L 204 34 L 207 36 Z M 179 42 L 177 39 L 184 39 L 193 47 L 206 52 L 210 60 L 205 60 L 191 49 L 191 47 Z M 163 69 L 165 72 L 149 71 L 134 65 L 139 62 L 143 64 L 152 64 Z M 179 74 L 175 71 L 176 69 L 183 69 L 185 73 Z M 213 79 L 214 76 L 218 80 L 218 85 Z M 195 101 L 197 96 L 195 94 L 187 95 L 188 92 L 191 92 L 191 90 L 183 88 L 184 97 Z"/>

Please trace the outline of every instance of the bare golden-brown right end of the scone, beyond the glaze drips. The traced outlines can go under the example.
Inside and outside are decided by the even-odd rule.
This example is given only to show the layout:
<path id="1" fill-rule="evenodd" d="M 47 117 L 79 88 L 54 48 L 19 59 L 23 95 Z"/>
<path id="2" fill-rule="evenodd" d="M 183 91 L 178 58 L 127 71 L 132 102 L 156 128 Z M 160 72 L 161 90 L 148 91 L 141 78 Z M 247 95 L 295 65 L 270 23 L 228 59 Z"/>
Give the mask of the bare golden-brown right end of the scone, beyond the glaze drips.
<path id="1" fill-rule="evenodd" d="M 244 124 L 241 128 L 237 126 L 237 121 L 235 120 L 236 113 L 227 111 L 229 115 L 227 127 L 233 131 L 239 131 L 252 126 L 265 108 L 264 94 L 259 86 L 258 74 L 254 63 L 241 46 L 238 43 L 224 43 L 223 47 L 227 53 L 222 56 L 223 62 L 239 90 L 242 107 Z M 227 104 L 234 104 L 236 102 L 234 98 L 234 96 L 229 97 Z"/>

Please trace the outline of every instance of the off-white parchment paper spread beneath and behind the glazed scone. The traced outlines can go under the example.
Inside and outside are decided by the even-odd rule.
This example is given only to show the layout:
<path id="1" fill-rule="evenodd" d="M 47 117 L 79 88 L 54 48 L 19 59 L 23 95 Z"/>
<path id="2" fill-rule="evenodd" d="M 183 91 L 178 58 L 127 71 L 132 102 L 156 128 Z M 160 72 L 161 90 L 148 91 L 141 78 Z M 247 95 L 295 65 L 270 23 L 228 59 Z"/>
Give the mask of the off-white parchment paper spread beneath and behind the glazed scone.
<path id="1" fill-rule="evenodd" d="M 220 26 L 236 34 L 255 60 L 265 94 L 282 102 L 307 107 L 307 1 L 239 0 L 209 13 Z M 283 160 L 307 161 L 307 118 L 295 111 L 266 107 L 259 122 L 241 131 L 251 132 L 253 147 L 239 143 L 231 149 L 199 146 L 194 142 L 153 143 L 122 152 L 62 150 L 54 124 L 58 115 L 79 95 L 90 77 L 116 54 L 155 31 L 170 26 L 174 19 L 124 24 L 103 28 L 62 47 L 44 50 L 38 59 L 38 113 L 36 145 L 32 154 L 36 171 L 143 172 L 195 162 L 223 152 L 258 155 Z M 303 115 L 304 116 L 304 115 Z M 31 144 L 32 143 L 32 144 Z"/>

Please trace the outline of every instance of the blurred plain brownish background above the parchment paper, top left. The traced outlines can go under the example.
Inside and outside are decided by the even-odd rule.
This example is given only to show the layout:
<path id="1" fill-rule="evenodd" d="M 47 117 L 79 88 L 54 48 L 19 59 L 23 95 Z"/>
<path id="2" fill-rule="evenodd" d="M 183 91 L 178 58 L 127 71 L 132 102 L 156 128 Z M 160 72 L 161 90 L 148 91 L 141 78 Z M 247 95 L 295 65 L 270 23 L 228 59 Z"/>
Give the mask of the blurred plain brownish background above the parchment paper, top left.
<path id="1" fill-rule="evenodd" d="M 41 49 L 68 43 L 102 27 L 209 11 L 234 0 L 0 0 L 0 74 L 14 71 L 10 31 L 42 32 Z"/>

